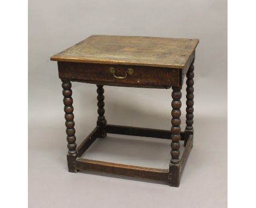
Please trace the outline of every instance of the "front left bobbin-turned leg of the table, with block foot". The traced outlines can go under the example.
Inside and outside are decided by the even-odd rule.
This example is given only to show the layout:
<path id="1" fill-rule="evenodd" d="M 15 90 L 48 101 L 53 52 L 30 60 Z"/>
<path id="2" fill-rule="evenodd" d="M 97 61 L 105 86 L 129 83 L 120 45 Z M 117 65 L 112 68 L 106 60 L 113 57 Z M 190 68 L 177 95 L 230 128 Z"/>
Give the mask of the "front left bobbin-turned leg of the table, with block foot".
<path id="1" fill-rule="evenodd" d="M 65 105 L 65 119 L 66 119 L 66 133 L 67 133 L 67 147 L 68 147 L 68 154 L 67 154 L 67 162 L 68 162 L 68 171 L 76 173 L 77 168 L 75 167 L 75 158 L 77 157 L 77 144 L 75 143 L 75 129 L 74 129 L 74 108 L 72 106 L 73 99 L 72 99 L 72 90 L 71 90 L 71 82 L 62 80 L 62 94 L 64 96 L 63 103 Z"/>

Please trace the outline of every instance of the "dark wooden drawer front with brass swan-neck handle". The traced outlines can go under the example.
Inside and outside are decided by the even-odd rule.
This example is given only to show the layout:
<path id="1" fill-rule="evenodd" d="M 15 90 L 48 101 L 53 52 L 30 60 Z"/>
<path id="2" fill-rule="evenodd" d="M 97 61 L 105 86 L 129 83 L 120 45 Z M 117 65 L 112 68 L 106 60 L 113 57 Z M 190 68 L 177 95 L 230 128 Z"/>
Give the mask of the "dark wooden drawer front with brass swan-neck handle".
<path id="1" fill-rule="evenodd" d="M 58 62 L 59 77 L 109 85 L 179 86 L 180 70 L 147 66 Z"/>

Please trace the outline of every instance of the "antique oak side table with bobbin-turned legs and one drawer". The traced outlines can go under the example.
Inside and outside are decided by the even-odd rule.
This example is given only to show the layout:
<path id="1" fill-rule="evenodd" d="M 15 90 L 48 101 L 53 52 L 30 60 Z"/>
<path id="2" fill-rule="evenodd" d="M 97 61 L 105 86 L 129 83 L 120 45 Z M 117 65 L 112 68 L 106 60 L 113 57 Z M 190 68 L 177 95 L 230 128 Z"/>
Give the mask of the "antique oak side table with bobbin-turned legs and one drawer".
<path id="1" fill-rule="evenodd" d="M 95 170 L 138 178 L 167 181 L 178 187 L 193 146 L 194 59 L 198 39 L 153 38 L 142 36 L 91 35 L 50 59 L 57 61 L 62 81 L 68 142 L 68 170 Z M 187 75 L 186 127 L 181 131 L 181 89 Z M 77 147 L 71 82 L 97 85 L 97 126 Z M 104 117 L 103 85 L 137 88 L 172 88 L 171 131 L 107 124 Z M 169 169 L 129 166 L 81 158 L 96 140 L 107 133 L 171 139 Z M 180 140 L 184 152 L 180 157 Z"/>

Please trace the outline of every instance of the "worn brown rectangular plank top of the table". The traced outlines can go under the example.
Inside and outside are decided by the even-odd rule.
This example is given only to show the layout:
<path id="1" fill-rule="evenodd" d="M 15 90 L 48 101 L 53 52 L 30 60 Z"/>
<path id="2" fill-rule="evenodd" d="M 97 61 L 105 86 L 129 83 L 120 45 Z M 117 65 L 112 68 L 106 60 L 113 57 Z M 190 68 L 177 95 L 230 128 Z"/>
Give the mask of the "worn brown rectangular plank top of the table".
<path id="1" fill-rule="evenodd" d="M 198 42 L 199 39 L 91 35 L 50 59 L 183 69 Z"/>

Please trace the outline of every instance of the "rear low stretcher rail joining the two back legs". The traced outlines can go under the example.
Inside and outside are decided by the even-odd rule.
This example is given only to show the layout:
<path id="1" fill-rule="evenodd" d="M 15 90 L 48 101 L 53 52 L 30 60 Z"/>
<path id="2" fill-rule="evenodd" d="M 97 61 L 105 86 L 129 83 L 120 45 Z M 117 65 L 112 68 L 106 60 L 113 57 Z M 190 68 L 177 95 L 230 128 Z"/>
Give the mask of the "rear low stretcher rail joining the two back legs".
<path id="1" fill-rule="evenodd" d="M 170 130 L 148 129 L 142 127 L 119 126 L 111 124 L 107 124 L 107 133 L 139 137 L 153 137 L 161 139 L 171 139 L 172 134 Z M 184 140 L 184 132 L 181 132 L 181 140 Z"/>

